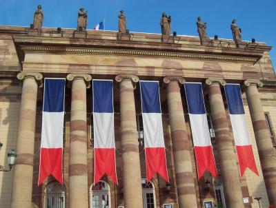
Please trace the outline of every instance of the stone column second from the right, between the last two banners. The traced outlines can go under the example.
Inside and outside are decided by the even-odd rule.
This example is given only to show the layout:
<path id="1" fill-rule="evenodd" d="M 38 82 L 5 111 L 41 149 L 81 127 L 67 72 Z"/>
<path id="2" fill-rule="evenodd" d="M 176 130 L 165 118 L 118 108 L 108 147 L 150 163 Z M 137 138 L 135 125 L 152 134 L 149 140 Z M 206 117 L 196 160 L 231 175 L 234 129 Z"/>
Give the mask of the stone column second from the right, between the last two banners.
<path id="1" fill-rule="evenodd" d="M 226 207 L 244 207 L 242 189 L 237 169 L 237 156 L 234 153 L 233 141 L 230 138 L 228 119 L 221 96 L 220 84 L 225 85 L 222 79 L 207 79 L 208 96 L 212 122 L 215 129 L 215 143 L 221 169 L 221 179 L 224 185 Z"/>

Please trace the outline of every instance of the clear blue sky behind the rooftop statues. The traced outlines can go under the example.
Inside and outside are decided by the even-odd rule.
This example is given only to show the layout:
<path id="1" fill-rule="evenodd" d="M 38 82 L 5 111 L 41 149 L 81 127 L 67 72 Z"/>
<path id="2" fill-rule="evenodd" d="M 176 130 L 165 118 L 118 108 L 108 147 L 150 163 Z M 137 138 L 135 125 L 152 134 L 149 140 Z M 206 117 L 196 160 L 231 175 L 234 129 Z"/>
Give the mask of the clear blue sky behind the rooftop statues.
<path id="1" fill-rule="evenodd" d="M 160 33 L 162 12 L 172 16 L 172 31 L 197 36 L 198 16 L 208 23 L 210 37 L 232 39 L 230 23 L 237 19 L 242 39 L 266 42 L 273 46 L 271 59 L 276 64 L 275 0 L 0 0 L 0 25 L 30 25 L 40 3 L 44 27 L 76 28 L 80 7 L 88 10 L 88 28 L 106 19 L 106 30 L 117 30 L 119 10 L 124 10 L 127 28 L 135 32 Z"/>

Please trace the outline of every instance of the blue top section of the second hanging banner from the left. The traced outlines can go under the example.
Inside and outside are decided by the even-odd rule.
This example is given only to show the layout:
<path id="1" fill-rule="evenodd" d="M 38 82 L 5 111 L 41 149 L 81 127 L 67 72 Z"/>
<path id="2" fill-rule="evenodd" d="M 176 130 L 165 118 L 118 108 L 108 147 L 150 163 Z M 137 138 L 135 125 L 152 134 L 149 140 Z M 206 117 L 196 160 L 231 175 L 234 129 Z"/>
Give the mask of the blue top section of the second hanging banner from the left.
<path id="1" fill-rule="evenodd" d="M 112 80 L 93 80 L 93 112 L 114 112 Z"/>

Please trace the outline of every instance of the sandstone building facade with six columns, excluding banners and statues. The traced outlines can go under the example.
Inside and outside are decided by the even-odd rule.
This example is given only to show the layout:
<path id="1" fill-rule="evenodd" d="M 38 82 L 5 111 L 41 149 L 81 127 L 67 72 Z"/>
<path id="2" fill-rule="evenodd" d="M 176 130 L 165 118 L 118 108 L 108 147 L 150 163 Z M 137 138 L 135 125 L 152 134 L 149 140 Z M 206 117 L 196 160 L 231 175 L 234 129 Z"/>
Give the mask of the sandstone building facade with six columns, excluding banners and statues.
<path id="1" fill-rule="evenodd" d="M 276 78 L 265 43 L 114 31 L 0 27 L 0 207 L 262 207 L 276 205 Z M 61 187 L 50 176 L 38 186 L 43 78 L 66 78 Z M 114 81 L 119 185 L 93 185 L 92 79 Z M 159 81 L 170 186 L 146 183 L 138 80 Z M 198 180 L 183 83 L 204 84 L 218 178 Z M 241 178 L 222 85 L 239 83 L 259 176 Z M 75 104 L 73 104 L 75 103 Z M 71 105 L 72 104 L 72 105 Z M 185 121 L 182 119 L 184 114 Z M 273 147 L 274 145 L 274 147 Z M 170 189 L 168 189 L 170 187 Z M 94 198 L 94 200 L 93 200 Z M 108 200 L 107 200 L 108 198 Z"/>

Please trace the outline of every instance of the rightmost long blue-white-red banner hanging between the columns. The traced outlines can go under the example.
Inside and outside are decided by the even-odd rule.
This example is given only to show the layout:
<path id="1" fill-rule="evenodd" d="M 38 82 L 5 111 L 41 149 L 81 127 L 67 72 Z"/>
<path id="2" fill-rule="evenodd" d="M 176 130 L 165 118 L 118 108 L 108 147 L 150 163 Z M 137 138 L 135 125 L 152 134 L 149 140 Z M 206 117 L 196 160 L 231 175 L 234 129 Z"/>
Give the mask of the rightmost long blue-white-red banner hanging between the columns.
<path id="1" fill-rule="evenodd" d="M 224 90 L 226 93 L 230 120 L 237 148 L 240 174 L 243 176 L 244 171 L 246 171 L 246 168 L 248 167 L 259 176 L 246 123 L 241 88 L 239 84 L 226 84 Z"/>

